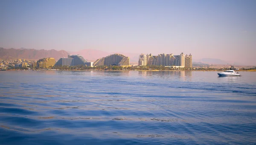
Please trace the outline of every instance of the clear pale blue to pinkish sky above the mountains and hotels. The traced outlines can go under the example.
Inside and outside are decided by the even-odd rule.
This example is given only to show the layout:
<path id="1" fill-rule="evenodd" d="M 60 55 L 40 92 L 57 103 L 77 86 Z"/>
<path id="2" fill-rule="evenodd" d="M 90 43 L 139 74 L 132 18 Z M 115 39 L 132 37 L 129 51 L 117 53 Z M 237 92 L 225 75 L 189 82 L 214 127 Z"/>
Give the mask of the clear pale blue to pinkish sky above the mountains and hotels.
<path id="1" fill-rule="evenodd" d="M 0 47 L 256 65 L 256 0 L 0 0 Z"/>

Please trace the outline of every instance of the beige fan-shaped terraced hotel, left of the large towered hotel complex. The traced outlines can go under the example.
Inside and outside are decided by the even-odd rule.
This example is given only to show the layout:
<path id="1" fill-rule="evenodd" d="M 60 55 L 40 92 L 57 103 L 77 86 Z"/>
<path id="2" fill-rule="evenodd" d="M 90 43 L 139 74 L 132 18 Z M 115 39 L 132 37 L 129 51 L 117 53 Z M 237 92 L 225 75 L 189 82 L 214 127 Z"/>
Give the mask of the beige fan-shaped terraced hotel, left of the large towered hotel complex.
<path id="1" fill-rule="evenodd" d="M 128 67 L 130 65 L 130 58 L 122 54 L 112 54 L 94 61 L 93 66 L 101 65 L 117 65 L 122 67 Z"/>

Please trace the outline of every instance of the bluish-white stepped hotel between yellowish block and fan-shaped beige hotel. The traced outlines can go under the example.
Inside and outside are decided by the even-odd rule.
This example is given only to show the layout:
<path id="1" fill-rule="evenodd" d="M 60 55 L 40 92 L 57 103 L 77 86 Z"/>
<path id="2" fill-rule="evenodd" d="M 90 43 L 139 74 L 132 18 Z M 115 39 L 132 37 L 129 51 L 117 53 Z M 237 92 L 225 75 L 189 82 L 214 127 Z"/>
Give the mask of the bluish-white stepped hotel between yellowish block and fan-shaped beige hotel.
<path id="1" fill-rule="evenodd" d="M 92 62 L 87 62 L 83 56 L 80 55 L 68 55 L 68 58 L 60 58 L 55 66 L 76 66 L 76 65 L 87 65 L 93 67 Z"/>

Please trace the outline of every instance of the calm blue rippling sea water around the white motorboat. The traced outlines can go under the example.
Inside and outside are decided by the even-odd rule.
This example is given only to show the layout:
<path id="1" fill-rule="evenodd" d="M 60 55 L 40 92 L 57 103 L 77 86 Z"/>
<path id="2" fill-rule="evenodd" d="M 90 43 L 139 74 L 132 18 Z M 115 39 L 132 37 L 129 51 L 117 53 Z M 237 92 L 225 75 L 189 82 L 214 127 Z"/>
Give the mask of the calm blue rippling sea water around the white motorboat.
<path id="1" fill-rule="evenodd" d="M 0 71 L 1 145 L 256 144 L 256 72 Z"/>

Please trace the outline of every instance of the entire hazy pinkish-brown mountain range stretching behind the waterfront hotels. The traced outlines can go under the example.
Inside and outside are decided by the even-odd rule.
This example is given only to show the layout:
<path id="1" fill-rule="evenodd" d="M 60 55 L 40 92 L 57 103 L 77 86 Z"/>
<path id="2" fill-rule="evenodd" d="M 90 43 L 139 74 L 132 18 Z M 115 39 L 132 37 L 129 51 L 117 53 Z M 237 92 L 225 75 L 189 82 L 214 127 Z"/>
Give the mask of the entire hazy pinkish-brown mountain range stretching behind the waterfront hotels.
<path id="1" fill-rule="evenodd" d="M 29 59 L 29 60 L 38 60 L 44 57 L 53 57 L 56 61 L 62 57 L 67 57 L 69 54 L 79 54 L 84 57 L 87 61 L 94 62 L 96 59 L 109 56 L 114 53 L 123 54 L 125 56 L 130 57 L 131 64 L 138 63 L 139 53 L 122 53 L 122 52 L 105 52 L 101 50 L 93 50 L 93 49 L 84 49 L 76 52 L 65 51 L 65 50 L 35 50 L 35 49 L 5 49 L 0 47 L 0 59 L 4 60 L 13 60 L 13 59 Z M 195 64 L 233 64 L 234 62 L 227 62 L 221 59 L 211 59 L 211 58 L 203 58 L 203 59 L 193 59 L 193 63 Z M 242 65 L 236 63 L 236 65 Z"/>

